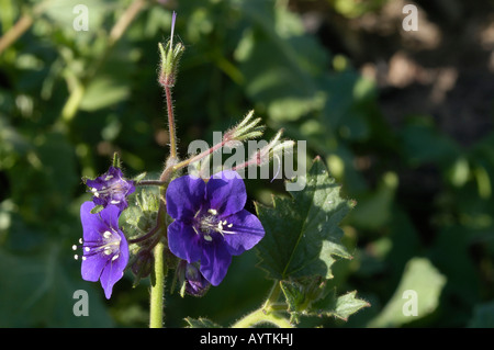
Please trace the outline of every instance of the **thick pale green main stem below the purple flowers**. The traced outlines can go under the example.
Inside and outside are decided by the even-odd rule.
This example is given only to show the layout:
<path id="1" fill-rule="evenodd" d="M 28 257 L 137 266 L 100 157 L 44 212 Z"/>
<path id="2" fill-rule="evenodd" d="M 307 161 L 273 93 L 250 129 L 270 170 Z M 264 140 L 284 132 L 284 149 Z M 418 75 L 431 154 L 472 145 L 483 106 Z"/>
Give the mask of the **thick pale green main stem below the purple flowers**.
<path id="1" fill-rule="evenodd" d="M 165 276 L 167 269 L 165 266 L 165 244 L 159 241 L 154 249 L 154 283 L 150 291 L 149 305 L 149 328 L 162 328 L 164 306 L 165 306 Z"/>

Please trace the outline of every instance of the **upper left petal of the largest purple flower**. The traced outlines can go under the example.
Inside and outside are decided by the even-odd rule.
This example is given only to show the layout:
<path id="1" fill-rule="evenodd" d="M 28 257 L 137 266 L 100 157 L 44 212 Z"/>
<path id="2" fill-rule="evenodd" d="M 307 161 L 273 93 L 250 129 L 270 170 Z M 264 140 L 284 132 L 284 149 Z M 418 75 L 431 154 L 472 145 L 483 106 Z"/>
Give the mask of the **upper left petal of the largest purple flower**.
<path id="1" fill-rule="evenodd" d="M 204 202 L 202 179 L 184 176 L 170 182 L 167 189 L 167 212 L 175 219 L 193 218 Z"/>

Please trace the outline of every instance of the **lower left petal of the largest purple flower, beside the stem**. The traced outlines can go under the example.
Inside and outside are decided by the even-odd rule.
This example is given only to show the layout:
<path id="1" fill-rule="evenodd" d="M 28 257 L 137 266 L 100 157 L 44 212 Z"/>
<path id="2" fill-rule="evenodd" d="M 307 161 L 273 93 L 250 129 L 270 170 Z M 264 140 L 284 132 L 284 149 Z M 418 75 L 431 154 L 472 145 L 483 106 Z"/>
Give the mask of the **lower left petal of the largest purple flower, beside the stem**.
<path id="1" fill-rule="evenodd" d="M 170 251 L 189 263 L 201 259 L 200 236 L 192 226 L 175 221 L 168 226 L 168 247 Z"/>

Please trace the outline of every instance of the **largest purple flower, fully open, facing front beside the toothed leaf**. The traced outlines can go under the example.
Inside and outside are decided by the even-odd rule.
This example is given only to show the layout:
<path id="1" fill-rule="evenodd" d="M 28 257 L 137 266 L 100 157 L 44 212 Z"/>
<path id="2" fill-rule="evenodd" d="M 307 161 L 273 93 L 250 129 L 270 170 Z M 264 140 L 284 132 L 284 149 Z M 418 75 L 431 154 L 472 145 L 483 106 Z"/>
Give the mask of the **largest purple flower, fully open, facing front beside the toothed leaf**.
<path id="1" fill-rule="evenodd" d="M 207 183 L 184 176 L 170 182 L 167 211 L 175 218 L 168 226 L 168 246 L 189 263 L 201 261 L 201 273 L 218 285 L 232 262 L 263 236 L 259 219 L 244 210 L 247 193 L 235 171 L 222 171 Z"/>

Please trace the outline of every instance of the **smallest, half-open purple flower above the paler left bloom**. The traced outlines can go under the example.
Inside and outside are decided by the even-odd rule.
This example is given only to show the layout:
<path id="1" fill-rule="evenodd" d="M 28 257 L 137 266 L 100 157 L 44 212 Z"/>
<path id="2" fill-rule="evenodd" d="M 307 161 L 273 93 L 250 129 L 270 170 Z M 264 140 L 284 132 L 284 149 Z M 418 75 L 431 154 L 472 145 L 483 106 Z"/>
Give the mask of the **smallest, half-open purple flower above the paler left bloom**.
<path id="1" fill-rule="evenodd" d="M 125 180 L 120 168 L 110 167 L 101 177 L 86 180 L 86 184 L 93 194 L 96 205 L 106 207 L 116 205 L 122 212 L 128 206 L 126 196 L 135 191 L 134 181 Z"/>

